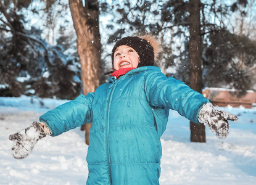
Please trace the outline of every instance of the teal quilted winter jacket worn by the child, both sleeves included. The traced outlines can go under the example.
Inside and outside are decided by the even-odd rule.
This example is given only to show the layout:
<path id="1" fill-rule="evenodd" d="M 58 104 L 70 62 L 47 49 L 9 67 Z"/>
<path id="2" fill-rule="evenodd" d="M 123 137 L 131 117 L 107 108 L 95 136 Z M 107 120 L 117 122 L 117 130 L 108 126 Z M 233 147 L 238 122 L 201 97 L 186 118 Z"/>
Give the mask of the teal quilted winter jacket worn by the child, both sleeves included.
<path id="1" fill-rule="evenodd" d="M 40 117 L 52 136 L 93 122 L 89 132 L 86 184 L 159 184 L 169 109 L 198 123 L 209 102 L 199 92 L 158 67 L 139 67 L 118 80 L 109 78 L 95 92 L 56 107 Z"/>

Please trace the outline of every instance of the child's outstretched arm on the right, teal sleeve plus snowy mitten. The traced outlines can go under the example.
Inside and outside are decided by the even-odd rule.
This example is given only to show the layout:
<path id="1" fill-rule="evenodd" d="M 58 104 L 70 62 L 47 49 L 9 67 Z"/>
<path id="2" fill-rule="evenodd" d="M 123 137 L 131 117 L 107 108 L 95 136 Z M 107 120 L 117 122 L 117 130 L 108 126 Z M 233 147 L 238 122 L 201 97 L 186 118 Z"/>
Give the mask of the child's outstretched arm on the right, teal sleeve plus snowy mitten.
<path id="1" fill-rule="evenodd" d="M 236 115 L 215 109 L 202 94 L 162 73 L 149 74 L 147 83 L 145 89 L 152 106 L 168 107 L 194 123 L 204 123 L 220 139 L 228 135 L 228 120 L 237 120 Z"/>

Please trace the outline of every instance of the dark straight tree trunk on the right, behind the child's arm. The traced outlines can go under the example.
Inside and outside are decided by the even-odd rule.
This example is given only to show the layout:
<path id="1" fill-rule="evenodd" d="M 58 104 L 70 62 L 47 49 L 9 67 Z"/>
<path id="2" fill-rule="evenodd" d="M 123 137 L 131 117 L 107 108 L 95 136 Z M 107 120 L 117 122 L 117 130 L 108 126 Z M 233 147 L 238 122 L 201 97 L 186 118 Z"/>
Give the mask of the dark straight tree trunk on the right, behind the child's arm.
<path id="1" fill-rule="evenodd" d="M 200 0 L 190 0 L 189 9 L 189 83 L 202 93 L 202 43 L 200 36 Z M 191 142 L 206 142 L 205 126 L 190 122 Z"/>

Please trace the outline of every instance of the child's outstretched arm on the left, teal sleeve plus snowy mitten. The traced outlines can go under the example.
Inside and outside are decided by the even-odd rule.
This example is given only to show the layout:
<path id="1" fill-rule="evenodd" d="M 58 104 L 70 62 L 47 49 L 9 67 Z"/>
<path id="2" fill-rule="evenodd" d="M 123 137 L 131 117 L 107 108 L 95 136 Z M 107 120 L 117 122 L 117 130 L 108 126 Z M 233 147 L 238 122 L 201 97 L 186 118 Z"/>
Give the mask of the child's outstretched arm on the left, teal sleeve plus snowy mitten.
<path id="1" fill-rule="evenodd" d="M 11 154 L 14 158 L 27 157 L 36 142 L 46 135 L 57 136 L 65 131 L 93 121 L 91 104 L 93 93 L 86 97 L 80 95 L 74 101 L 56 107 L 40 117 L 41 122 L 34 121 L 31 126 L 9 136 L 13 141 Z"/>

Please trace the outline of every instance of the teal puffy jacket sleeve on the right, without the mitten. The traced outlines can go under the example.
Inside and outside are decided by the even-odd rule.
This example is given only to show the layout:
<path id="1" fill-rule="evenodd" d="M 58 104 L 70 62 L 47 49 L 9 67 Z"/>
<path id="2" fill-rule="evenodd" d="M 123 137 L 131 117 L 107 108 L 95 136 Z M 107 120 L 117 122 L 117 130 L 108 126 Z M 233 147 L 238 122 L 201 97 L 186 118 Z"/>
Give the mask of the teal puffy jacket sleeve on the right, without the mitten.
<path id="1" fill-rule="evenodd" d="M 209 102 L 199 92 L 173 77 L 167 78 L 162 72 L 147 75 L 145 90 L 151 106 L 176 110 L 194 123 L 199 123 L 199 110 Z"/>

